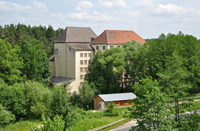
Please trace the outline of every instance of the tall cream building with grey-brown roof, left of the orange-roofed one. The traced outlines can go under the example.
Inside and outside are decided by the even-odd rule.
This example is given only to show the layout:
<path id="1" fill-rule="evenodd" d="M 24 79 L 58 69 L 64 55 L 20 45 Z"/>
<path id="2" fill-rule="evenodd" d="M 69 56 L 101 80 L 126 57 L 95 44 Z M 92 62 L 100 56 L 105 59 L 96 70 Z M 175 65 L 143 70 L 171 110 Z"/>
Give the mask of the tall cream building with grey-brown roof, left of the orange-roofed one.
<path id="1" fill-rule="evenodd" d="M 78 93 L 93 57 L 91 41 L 97 35 L 89 27 L 67 27 L 54 41 L 50 57 L 52 84 L 70 82 L 70 93 Z"/>

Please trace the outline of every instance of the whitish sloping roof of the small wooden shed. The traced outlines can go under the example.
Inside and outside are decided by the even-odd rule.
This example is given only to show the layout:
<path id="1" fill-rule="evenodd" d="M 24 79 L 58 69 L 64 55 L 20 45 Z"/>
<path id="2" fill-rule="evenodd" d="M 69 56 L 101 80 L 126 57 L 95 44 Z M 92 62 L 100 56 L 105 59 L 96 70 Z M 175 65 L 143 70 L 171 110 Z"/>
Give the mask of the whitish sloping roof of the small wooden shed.
<path id="1" fill-rule="evenodd" d="M 116 94 L 101 94 L 98 95 L 105 102 L 106 101 L 122 101 L 122 100 L 132 100 L 136 98 L 136 95 L 133 93 L 116 93 Z"/>

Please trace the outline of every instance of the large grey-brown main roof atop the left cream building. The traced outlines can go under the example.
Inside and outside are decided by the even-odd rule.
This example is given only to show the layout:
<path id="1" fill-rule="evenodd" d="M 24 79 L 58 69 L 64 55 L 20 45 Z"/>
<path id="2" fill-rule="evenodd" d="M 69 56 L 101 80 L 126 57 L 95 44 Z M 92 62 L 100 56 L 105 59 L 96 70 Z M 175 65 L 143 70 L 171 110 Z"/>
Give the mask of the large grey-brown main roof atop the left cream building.
<path id="1" fill-rule="evenodd" d="M 90 43 L 97 35 L 89 27 L 66 27 L 54 43 Z"/>

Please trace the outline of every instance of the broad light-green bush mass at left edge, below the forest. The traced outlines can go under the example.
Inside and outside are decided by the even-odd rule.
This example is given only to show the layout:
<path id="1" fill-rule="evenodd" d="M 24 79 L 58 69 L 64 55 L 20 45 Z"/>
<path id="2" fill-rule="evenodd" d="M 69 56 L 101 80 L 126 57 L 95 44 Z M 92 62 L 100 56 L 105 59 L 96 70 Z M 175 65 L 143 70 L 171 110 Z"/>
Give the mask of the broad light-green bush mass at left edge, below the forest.
<path id="1" fill-rule="evenodd" d="M 49 109 L 51 91 L 38 82 L 0 84 L 0 104 L 21 118 L 41 118 Z"/>

